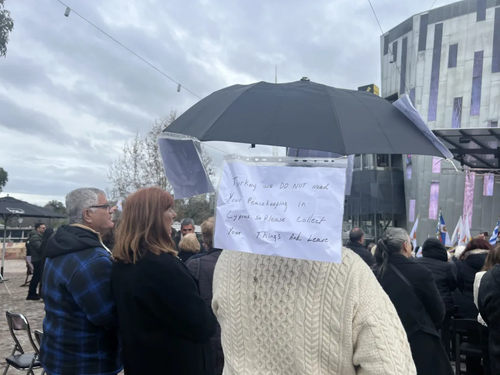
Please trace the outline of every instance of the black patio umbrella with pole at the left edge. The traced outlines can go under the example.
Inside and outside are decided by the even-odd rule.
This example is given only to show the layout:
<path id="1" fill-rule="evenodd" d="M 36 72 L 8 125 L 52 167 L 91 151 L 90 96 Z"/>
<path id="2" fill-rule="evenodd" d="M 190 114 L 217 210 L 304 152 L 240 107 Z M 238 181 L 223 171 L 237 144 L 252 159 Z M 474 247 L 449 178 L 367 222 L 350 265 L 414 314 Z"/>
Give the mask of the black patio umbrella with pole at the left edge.
<path id="1" fill-rule="evenodd" d="M 3 246 L 1 252 L 0 274 L 3 277 L 3 261 L 5 259 L 5 239 L 7 237 L 7 220 L 12 217 L 47 217 L 63 218 L 65 215 L 53 212 L 49 209 L 38 207 L 34 204 L 15 199 L 11 196 L 0 197 L 0 217 L 3 218 Z"/>

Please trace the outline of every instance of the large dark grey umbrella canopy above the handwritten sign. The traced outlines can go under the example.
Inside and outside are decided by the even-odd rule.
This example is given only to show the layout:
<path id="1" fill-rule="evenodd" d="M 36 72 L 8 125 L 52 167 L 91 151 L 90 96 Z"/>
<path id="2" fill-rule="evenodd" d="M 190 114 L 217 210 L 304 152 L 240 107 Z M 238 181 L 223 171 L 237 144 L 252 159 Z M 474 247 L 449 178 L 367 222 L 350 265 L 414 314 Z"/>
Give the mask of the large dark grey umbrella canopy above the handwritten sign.
<path id="1" fill-rule="evenodd" d="M 429 139 L 429 134 L 380 96 L 308 80 L 223 88 L 198 101 L 165 131 L 200 141 L 267 144 L 342 155 L 451 157 L 435 136 L 430 134 L 433 138 Z"/>

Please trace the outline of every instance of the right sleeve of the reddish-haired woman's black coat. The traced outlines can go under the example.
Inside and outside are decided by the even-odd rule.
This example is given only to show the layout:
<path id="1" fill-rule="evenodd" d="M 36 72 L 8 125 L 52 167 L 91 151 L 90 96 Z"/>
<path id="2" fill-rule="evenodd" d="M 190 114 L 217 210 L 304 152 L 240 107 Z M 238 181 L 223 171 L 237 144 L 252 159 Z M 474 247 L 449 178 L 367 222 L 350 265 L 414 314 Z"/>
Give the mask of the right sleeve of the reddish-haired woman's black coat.
<path id="1" fill-rule="evenodd" d="M 151 271 L 158 291 L 153 303 L 155 308 L 159 306 L 164 311 L 161 323 L 179 336 L 192 340 L 213 336 L 217 320 L 212 309 L 200 296 L 196 282 L 182 261 L 171 255 L 168 257 L 160 257 L 155 263 L 158 268 Z"/>

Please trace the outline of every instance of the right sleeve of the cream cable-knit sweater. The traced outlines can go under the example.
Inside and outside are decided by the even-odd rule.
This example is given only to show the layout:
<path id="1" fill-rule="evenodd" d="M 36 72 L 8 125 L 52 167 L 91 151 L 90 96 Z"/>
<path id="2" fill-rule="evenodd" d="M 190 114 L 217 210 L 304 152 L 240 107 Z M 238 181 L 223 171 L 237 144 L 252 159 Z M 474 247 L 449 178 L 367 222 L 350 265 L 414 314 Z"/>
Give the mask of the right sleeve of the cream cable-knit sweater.
<path id="1" fill-rule="evenodd" d="M 373 272 L 352 272 L 357 299 L 352 317 L 352 364 L 359 375 L 416 375 L 406 332 Z"/>

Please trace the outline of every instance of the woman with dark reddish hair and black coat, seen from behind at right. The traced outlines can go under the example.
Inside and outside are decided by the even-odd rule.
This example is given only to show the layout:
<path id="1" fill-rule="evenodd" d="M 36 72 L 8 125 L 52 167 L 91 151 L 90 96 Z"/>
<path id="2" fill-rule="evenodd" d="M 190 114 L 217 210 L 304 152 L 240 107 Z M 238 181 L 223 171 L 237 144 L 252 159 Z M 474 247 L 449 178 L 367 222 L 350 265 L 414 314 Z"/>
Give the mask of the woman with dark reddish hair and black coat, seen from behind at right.
<path id="1" fill-rule="evenodd" d="M 456 272 L 456 286 L 461 296 L 455 298 L 458 305 L 458 315 L 466 319 L 477 319 L 477 307 L 474 304 L 475 274 L 481 270 L 486 255 L 491 249 L 488 241 L 481 238 L 472 238 L 463 252 L 454 262 Z"/>

